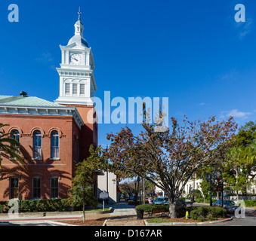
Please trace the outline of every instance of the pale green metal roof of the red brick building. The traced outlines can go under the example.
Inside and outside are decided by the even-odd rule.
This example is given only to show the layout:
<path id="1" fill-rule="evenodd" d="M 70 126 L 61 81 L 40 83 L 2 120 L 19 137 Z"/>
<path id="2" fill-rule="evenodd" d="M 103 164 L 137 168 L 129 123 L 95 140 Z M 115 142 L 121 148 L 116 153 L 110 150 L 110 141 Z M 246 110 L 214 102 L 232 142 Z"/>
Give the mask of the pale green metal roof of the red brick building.
<path id="1" fill-rule="evenodd" d="M 63 105 L 33 96 L 0 96 L 0 105 L 63 107 Z"/>

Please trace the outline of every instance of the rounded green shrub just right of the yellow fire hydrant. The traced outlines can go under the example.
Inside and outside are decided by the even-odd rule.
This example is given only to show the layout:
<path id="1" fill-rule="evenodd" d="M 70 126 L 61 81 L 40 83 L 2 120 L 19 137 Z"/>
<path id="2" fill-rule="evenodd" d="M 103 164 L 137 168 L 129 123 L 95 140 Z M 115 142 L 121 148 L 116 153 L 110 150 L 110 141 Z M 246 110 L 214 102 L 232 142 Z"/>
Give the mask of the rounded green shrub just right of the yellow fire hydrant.
<path id="1" fill-rule="evenodd" d="M 217 218 L 226 218 L 227 210 L 215 206 L 198 206 L 190 212 L 190 217 L 197 221 L 215 220 Z"/>

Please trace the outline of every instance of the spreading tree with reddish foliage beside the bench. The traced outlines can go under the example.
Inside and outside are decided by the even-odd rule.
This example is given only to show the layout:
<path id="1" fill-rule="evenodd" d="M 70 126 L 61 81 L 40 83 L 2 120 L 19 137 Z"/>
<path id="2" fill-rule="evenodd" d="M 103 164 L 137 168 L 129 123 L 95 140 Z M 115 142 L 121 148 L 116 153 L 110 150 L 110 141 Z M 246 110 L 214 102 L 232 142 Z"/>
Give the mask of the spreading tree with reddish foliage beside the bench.
<path id="1" fill-rule="evenodd" d="M 214 162 L 230 148 L 237 126 L 233 117 L 190 122 L 184 116 L 181 124 L 172 117 L 171 123 L 164 132 L 156 131 L 157 121 L 143 121 L 143 131 L 137 136 L 128 127 L 109 133 L 107 155 L 119 176 L 140 175 L 165 191 L 169 218 L 176 218 L 177 200 L 185 185 L 200 166 Z"/>

